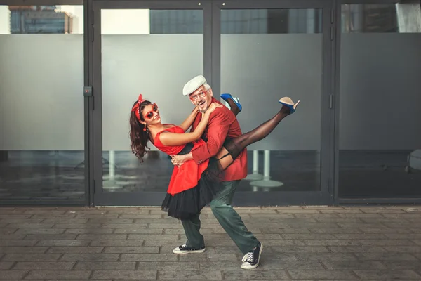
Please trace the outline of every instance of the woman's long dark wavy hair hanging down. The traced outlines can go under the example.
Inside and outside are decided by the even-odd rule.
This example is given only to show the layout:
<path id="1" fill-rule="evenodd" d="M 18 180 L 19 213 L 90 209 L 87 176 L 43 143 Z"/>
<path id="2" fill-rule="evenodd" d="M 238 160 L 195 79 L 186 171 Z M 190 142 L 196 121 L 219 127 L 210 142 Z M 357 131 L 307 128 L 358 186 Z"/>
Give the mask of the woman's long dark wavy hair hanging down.
<path id="1" fill-rule="evenodd" d="M 138 103 L 136 101 L 133 104 L 133 107 Z M 149 151 L 150 148 L 147 147 L 147 141 L 149 141 L 149 131 L 146 129 L 144 131 L 146 125 L 139 122 L 138 117 L 136 117 L 136 112 L 139 110 L 140 119 L 145 121 L 142 116 L 142 110 L 145 106 L 150 105 L 151 102 L 149 100 L 144 100 L 140 103 L 139 109 L 135 109 L 131 112 L 130 115 L 130 141 L 131 141 L 131 150 L 132 152 L 138 157 L 140 160 L 143 159 L 142 157 Z M 132 108 L 133 108 L 132 107 Z"/>

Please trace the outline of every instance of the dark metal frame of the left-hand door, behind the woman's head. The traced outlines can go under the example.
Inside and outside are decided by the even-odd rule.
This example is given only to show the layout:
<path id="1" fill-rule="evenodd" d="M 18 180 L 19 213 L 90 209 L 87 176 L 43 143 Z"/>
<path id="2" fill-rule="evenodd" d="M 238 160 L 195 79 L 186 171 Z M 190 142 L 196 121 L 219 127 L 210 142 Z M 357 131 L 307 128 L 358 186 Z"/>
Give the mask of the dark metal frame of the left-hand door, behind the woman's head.
<path id="1" fill-rule="evenodd" d="M 101 13 L 102 9 L 164 9 L 164 10 L 203 10 L 203 73 L 211 81 L 210 72 L 210 41 L 211 41 L 211 11 L 210 2 L 201 1 L 101 1 L 93 0 L 91 20 L 89 21 L 92 50 L 91 85 L 93 96 L 92 107 L 92 137 L 93 137 L 93 180 L 91 181 L 91 206 L 160 206 L 166 192 L 103 192 L 102 191 L 102 55 L 101 55 Z M 93 19 L 92 19 L 93 18 Z"/>

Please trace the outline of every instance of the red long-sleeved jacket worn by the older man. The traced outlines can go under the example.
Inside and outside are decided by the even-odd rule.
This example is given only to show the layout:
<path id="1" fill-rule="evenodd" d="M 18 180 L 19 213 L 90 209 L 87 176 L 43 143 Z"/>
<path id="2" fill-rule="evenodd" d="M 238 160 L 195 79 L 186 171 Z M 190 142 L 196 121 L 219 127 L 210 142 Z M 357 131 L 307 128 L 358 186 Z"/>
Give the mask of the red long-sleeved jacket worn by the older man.
<path id="1" fill-rule="evenodd" d="M 215 98 L 212 98 L 212 103 L 220 103 Z M 202 115 L 198 114 L 192 124 L 194 131 L 196 126 L 199 124 Z M 206 159 L 215 156 L 225 141 L 227 136 L 234 138 L 241 136 L 240 124 L 237 121 L 234 114 L 226 106 L 216 108 L 211 114 L 208 122 L 208 126 L 203 133 L 203 140 L 206 141 L 206 145 L 201 145 L 200 148 L 192 151 L 192 156 L 196 164 L 200 164 Z M 234 162 L 225 169 L 222 176 L 224 181 L 235 181 L 246 178 L 247 176 L 247 150 L 246 148 L 240 153 Z"/>

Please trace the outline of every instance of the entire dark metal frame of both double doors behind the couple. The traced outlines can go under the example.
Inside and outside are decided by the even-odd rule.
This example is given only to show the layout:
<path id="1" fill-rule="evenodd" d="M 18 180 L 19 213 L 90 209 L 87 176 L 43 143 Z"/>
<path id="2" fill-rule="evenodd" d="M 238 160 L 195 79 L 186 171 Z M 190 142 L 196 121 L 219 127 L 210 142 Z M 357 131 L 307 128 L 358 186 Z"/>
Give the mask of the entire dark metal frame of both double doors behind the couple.
<path id="1" fill-rule="evenodd" d="M 88 35 L 88 63 L 86 85 L 93 86 L 89 100 L 90 148 L 89 195 L 91 206 L 160 206 L 165 192 L 102 192 L 102 74 L 100 10 L 119 8 L 148 9 L 203 9 L 203 74 L 213 87 L 215 98 L 220 95 L 220 11 L 222 8 L 322 8 L 323 9 L 323 81 L 321 108 L 321 190 L 316 192 L 236 192 L 233 204 L 301 205 L 333 203 L 333 0 L 281 1 L 87 1 L 86 31 Z M 199 5 L 200 3 L 200 5 Z"/>

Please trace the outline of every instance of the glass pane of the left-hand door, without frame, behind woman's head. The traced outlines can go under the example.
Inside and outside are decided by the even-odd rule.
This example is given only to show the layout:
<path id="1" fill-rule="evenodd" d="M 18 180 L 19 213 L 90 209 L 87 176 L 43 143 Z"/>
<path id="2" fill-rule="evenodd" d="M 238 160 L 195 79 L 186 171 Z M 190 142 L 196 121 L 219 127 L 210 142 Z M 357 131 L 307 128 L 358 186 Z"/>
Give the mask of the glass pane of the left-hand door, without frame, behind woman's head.
<path id="1" fill-rule="evenodd" d="M 168 188 L 173 164 L 151 143 L 145 162 L 140 162 L 131 152 L 128 119 L 139 93 L 159 105 L 163 122 L 181 124 L 192 112 L 193 105 L 182 96 L 182 87 L 203 73 L 203 34 L 166 32 L 180 22 L 184 33 L 199 25 L 203 29 L 203 10 L 193 12 L 194 20 L 179 21 L 169 10 L 101 10 L 105 192 L 164 192 Z M 161 13 L 171 18 L 158 25 L 154 15 Z"/>

